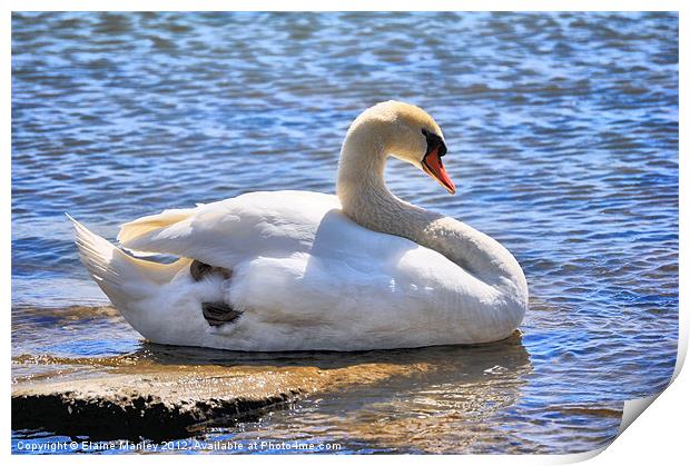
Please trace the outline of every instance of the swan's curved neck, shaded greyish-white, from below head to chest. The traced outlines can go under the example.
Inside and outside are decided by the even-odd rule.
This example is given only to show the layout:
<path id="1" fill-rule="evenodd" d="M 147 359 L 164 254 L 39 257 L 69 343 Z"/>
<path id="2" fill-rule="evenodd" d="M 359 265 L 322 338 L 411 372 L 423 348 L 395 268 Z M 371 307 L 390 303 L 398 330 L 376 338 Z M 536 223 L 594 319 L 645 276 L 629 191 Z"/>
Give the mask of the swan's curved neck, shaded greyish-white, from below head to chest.
<path id="1" fill-rule="evenodd" d="M 375 131 L 357 129 L 351 129 L 343 143 L 336 189 L 349 218 L 368 229 L 434 249 L 487 285 L 526 290 L 520 265 L 493 238 L 394 196 L 383 179 L 386 145 Z"/>

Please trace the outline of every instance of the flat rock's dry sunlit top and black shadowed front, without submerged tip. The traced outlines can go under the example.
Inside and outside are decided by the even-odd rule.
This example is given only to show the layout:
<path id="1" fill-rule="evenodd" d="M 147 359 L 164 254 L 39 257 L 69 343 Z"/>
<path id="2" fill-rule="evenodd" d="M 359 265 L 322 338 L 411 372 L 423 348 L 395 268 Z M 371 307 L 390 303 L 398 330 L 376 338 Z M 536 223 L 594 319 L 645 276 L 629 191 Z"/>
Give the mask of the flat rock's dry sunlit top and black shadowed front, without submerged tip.
<path id="1" fill-rule="evenodd" d="M 292 378 L 177 369 L 21 384 L 12 391 L 12 426 L 103 439 L 184 437 L 191 425 L 294 399 L 304 388 Z"/>

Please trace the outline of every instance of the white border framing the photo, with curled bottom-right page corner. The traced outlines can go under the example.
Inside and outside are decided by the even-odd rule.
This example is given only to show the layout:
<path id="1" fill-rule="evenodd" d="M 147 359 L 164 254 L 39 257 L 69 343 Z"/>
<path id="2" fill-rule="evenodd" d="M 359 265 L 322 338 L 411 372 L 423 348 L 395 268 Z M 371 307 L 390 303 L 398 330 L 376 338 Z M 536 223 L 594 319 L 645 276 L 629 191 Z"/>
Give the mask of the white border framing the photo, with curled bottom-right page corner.
<path id="1" fill-rule="evenodd" d="M 287 11 L 337 11 L 337 10 L 418 10 L 423 7 L 425 10 L 464 10 L 464 11 L 487 11 L 487 10 L 504 10 L 504 11 L 520 11 L 520 10 L 532 10 L 532 11 L 638 11 L 638 10 L 657 10 L 657 11 L 679 11 L 680 12 L 680 108 L 687 108 L 687 86 L 683 86 L 684 81 L 687 81 L 688 72 L 687 72 L 687 33 L 688 33 L 688 9 L 683 6 L 683 2 L 670 1 L 670 0 L 660 0 L 660 1 L 603 1 L 603 0 L 579 0 L 579 1 L 559 1 L 558 4 L 553 1 L 545 0 L 528 0 L 528 1 L 496 1 L 496 0 L 483 0 L 481 2 L 477 1 L 465 1 L 465 0 L 456 0 L 456 1 L 443 1 L 443 0 L 425 0 L 424 2 L 412 2 L 412 1 L 393 1 L 393 0 L 383 0 L 373 2 L 372 0 L 353 0 L 348 2 L 331 2 L 327 6 L 323 1 L 303 1 L 303 0 L 293 0 L 289 4 L 280 3 L 279 1 L 267 1 L 267 0 L 255 0 L 252 2 L 220 2 L 220 1 L 211 1 L 211 0 L 197 0 L 197 1 L 181 1 L 181 0 L 168 0 L 168 1 L 131 1 L 124 0 L 119 2 L 107 2 L 100 0 L 73 0 L 73 1 L 37 1 L 37 0 L 28 0 L 28 1 L 14 1 L 10 0 L 6 2 L 6 8 L 3 8 L 2 17 L 0 18 L 0 34 L 2 37 L 2 48 L 1 58 L 4 67 L 4 72 L 2 73 L 2 112 L 0 113 L 0 123 L 1 123 L 1 141 L 2 141 L 2 165 L 3 169 L 1 170 L 2 184 L 0 189 L 0 200 L 3 209 L 3 218 L 4 222 L 0 226 L 0 235 L 2 236 L 2 242 L 0 246 L 0 257 L 1 266 L 0 272 L 2 274 L 2 280 L 0 281 L 1 286 L 1 295 L 3 297 L 3 301 L 6 304 L 3 313 L 2 313 L 2 323 L 4 324 L 6 330 L 6 348 L 8 349 L 6 353 L 6 357 L 2 360 L 3 373 L 6 375 L 6 393 L 1 398 L 0 408 L 2 413 L 6 413 L 4 416 L 4 429 L 0 439 L 0 448 L 2 448 L 0 455 L 4 455 L 6 459 L 12 463 L 20 464 L 45 464 L 46 462 L 69 462 L 72 464 L 79 464 L 85 462 L 98 460 L 98 462 L 112 462 L 120 464 L 122 462 L 135 462 L 135 463 L 162 463 L 166 464 L 181 464 L 183 462 L 187 463 L 189 460 L 205 460 L 215 464 L 227 464 L 227 462 L 233 463 L 241 463 L 241 464 L 252 464 L 256 465 L 257 463 L 262 464 L 264 462 L 272 460 L 285 460 L 286 457 L 266 457 L 262 455 L 240 455 L 233 456 L 228 458 L 226 455 L 218 455 L 214 457 L 204 458 L 201 456 L 117 456 L 117 457 L 103 457 L 103 456 L 81 456 L 81 455 L 69 455 L 69 456 L 60 456 L 60 457 L 33 457 L 33 456 L 11 456 L 10 455 L 10 384 L 9 379 L 11 377 L 10 373 L 10 351 L 11 351 L 11 340 L 10 340 L 10 309 L 11 309 L 11 274 L 10 274 L 10 257 L 11 257 L 11 235 L 10 235 L 10 216 L 11 216 L 11 176 L 10 176 L 10 153 L 11 153 L 11 126 L 10 126 L 10 112 L 11 112 L 11 40 L 10 40 L 10 27 L 11 27 L 11 11 L 65 11 L 65 10 L 119 10 L 119 11 L 144 11 L 144 10 L 287 10 Z M 228 8 L 233 6 L 235 8 Z M 516 7 L 520 7 L 516 9 Z M 684 121 L 682 118 L 682 111 L 680 115 L 680 121 Z M 687 127 L 680 127 L 680 153 L 688 155 L 688 131 Z M 687 157 L 687 156 L 686 156 Z M 680 187 L 687 186 L 687 175 L 682 170 L 682 157 L 681 157 L 681 170 L 679 184 Z M 687 221 L 683 221 L 683 218 L 688 218 L 688 192 L 687 189 L 680 189 L 680 238 L 684 238 L 688 236 L 687 231 Z M 686 264 L 687 252 L 681 240 L 681 251 L 680 251 L 680 316 L 679 316 L 679 355 L 676 366 L 674 377 L 677 377 L 680 373 L 680 369 L 683 365 L 687 348 L 688 348 L 688 309 L 683 308 L 684 295 L 682 293 L 683 288 L 688 285 L 687 270 L 682 266 Z M 686 306 L 687 308 L 687 306 Z M 623 462 L 632 462 L 633 464 L 638 464 L 643 460 L 645 463 L 649 462 L 663 462 L 676 464 L 677 458 L 683 457 L 686 453 L 686 443 L 687 443 L 687 430 L 686 430 L 686 419 L 688 415 L 688 397 L 684 395 L 686 393 L 690 393 L 690 377 L 686 374 L 681 374 L 680 377 L 672 384 L 672 386 L 664 391 L 657 401 L 652 404 L 652 407 L 648 409 L 647 413 L 642 415 L 642 422 L 633 423 L 632 426 L 625 430 L 625 433 L 608 448 L 608 450 L 603 455 L 599 455 L 595 459 L 592 460 L 593 464 L 605 465 L 612 464 L 613 462 L 623 463 Z M 410 456 L 400 456 L 400 455 L 388 455 L 388 456 L 376 456 L 376 457 L 366 457 L 356 455 L 354 457 L 346 456 L 306 456 L 300 455 L 296 459 L 300 463 L 342 463 L 342 462 L 374 462 L 377 464 L 386 463 L 386 464 L 398 464 L 401 460 L 403 462 L 434 462 L 434 463 L 446 463 L 446 464 L 456 464 L 459 460 L 462 460 L 463 464 L 496 464 L 496 463 L 513 463 L 513 464 L 565 464 L 573 463 L 590 458 L 592 456 L 597 456 L 599 452 L 590 452 L 586 454 L 579 455 L 530 455 L 530 456 L 506 456 L 506 455 L 497 455 L 497 456 L 479 456 L 479 455 L 462 455 L 460 458 L 455 456 L 431 456 L 426 455 L 423 457 L 414 457 L 414 459 Z M 95 459 L 98 458 L 98 459 Z M 673 459 L 673 462 L 671 462 Z"/>

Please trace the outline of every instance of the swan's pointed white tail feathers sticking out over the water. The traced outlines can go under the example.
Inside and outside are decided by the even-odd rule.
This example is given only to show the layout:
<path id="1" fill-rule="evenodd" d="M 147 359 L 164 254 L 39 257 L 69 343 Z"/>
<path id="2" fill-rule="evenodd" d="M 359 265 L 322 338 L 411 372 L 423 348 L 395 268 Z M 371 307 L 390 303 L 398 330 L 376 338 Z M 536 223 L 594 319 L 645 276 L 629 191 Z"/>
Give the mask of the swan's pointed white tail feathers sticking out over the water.
<path id="1" fill-rule="evenodd" d="M 75 242 L 79 248 L 81 262 L 116 307 L 146 297 L 151 293 L 152 286 L 157 288 L 170 281 L 190 262 L 190 259 L 179 259 L 172 264 L 137 259 L 66 215 L 75 227 Z"/>

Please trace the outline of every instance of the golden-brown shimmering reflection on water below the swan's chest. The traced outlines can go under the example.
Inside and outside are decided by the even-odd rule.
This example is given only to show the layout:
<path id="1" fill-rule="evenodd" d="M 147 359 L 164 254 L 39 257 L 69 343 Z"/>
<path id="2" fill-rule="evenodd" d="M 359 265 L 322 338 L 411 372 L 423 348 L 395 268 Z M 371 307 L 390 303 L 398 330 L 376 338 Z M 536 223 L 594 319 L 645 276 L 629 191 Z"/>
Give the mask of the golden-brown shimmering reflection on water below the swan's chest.
<path id="1" fill-rule="evenodd" d="M 433 370 L 309 399 L 292 412 L 245 423 L 238 432 L 220 438 L 244 443 L 257 437 L 335 442 L 351 450 L 407 453 L 534 449 L 529 440 L 506 445 L 507 436 L 502 432 L 506 420 L 503 413 L 520 398 L 525 376 L 532 370 L 519 336 L 483 346 L 388 351 L 385 358 L 398 364 L 424 361 Z M 295 418 L 299 419 L 297 438 Z M 523 435 L 529 438 L 531 430 Z"/>

